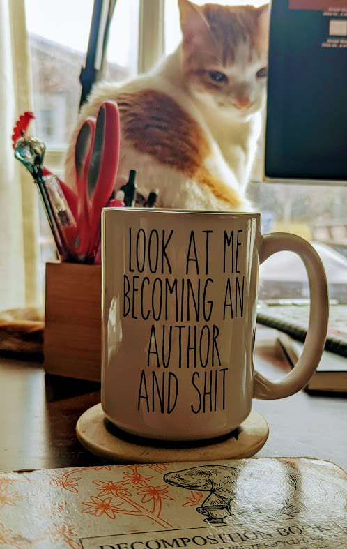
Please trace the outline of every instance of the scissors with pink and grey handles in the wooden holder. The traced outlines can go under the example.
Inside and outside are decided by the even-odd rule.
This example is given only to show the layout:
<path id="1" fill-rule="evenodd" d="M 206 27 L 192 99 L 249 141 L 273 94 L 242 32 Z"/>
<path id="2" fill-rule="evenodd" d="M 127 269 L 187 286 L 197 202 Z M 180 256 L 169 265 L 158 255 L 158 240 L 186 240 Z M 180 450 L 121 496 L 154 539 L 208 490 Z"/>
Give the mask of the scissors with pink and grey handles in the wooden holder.
<path id="1" fill-rule="evenodd" d="M 75 143 L 78 196 L 75 250 L 92 259 L 100 237 L 101 210 L 114 190 L 119 158 L 119 112 L 114 101 L 102 103 L 97 118 L 84 121 Z"/>

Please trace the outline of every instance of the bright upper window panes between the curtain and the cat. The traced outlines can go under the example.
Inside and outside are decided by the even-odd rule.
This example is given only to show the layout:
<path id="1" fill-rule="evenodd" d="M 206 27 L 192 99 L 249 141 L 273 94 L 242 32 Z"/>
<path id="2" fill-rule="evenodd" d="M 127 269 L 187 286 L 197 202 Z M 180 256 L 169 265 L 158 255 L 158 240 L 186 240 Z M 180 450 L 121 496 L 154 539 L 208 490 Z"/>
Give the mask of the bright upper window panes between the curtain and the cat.
<path id="1" fill-rule="evenodd" d="M 26 0 L 31 46 L 36 133 L 47 144 L 47 165 L 61 156 L 75 127 L 81 97 L 79 74 L 86 59 L 93 0 Z M 38 26 L 37 14 L 40 13 Z M 139 0 L 118 0 L 109 30 L 105 77 L 122 80 L 137 72 Z M 68 17 L 67 17 L 68 14 Z"/>

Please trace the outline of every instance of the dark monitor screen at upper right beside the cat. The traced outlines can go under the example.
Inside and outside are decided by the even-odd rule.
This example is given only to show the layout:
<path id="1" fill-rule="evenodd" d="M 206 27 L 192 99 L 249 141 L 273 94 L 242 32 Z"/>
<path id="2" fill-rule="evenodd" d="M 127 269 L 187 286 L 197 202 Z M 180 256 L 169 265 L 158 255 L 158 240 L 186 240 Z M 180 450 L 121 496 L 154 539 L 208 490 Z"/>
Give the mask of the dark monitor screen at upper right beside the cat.
<path id="1" fill-rule="evenodd" d="M 347 0 L 272 0 L 265 177 L 347 180 Z"/>

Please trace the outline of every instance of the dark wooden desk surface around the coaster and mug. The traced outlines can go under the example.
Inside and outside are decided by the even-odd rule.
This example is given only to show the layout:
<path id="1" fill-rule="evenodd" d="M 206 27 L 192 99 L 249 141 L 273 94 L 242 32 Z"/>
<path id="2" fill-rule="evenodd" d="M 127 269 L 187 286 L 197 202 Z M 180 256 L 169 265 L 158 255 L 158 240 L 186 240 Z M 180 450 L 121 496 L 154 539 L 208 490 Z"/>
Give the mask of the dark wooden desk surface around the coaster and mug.
<path id="1" fill-rule="evenodd" d="M 268 377 L 290 369 L 276 332 L 258 326 L 256 368 Z M 100 402 L 100 385 L 45 375 L 39 361 L 0 356 L 0 472 L 99 465 L 79 444 L 79 416 Z M 257 457 L 304 456 L 347 470 L 347 399 L 309 396 L 254 400 L 268 421 L 268 442 Z"/>

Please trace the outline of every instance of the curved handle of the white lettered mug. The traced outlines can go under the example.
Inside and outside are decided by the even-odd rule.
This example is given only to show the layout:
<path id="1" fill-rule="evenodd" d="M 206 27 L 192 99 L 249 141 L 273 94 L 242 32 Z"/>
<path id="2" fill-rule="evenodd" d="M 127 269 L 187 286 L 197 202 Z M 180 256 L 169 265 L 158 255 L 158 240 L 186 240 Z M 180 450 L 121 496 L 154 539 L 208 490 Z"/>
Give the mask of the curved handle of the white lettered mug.
<path id="1" fill-rule="evenodd" d="M 311 298 L 309 328 L 300 359 L 291 372 L 280 379 L 267 379 L 256 370 L 254 371 L 254 398 L 266 400 L 291 396 L 309 382 L 321 360 L 327 336 L 329 317 L 327 278 L 318 253 L 300 236 L 285 232 L 266 234 L 261 236 L 260 263 L 267 260 L 273 253 L 283 250 L 296 253 L 306 268 Z"/>

